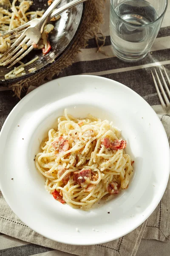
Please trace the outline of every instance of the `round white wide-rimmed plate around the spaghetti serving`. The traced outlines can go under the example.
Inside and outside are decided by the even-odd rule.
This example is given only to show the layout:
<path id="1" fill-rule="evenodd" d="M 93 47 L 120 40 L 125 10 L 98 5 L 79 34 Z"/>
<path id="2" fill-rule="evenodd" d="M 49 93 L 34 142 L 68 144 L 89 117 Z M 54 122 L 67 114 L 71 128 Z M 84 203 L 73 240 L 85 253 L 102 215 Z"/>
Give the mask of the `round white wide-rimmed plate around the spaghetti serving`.
<path id="1" fill-rule="evenodd" d="M 64 108 L 113 121 L 135 160 L 128 189 L 89 212 L 54 200 L 34 165 Z M 66 244 L 104 243 L 134 230 L 158 205 L 169 171 L 169 143 L 156 113 L 133 90 L 102 77 L 69 76 L 38 87 L 11 111 L 0 134 L 0 188 L 7 203 L 28 227 Z"/>

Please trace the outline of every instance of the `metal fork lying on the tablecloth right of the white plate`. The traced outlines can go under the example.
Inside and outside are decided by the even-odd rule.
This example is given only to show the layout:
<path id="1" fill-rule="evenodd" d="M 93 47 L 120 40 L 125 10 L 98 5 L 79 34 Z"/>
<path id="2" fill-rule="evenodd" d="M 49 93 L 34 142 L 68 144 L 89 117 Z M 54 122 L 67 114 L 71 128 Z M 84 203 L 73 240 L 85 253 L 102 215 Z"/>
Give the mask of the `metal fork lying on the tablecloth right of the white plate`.
<path id="1" fill-rule="evenodd" d="M 170 78 L 169 78 L 169 76 L 167 75 L 167 72 L 166 72 L 164 66 L 162 66 L 162 67 L 163 67 L 163 69 L 164 69 L 164 73 L 165 73 L 165 76 L 166 76 L 166 78 L 167 78 L 167 81 L 168 81 L 168 83 L 169 83 L 169 85 L 170 85 Z M 166 83 L 166 81 L 165 81 L 165 79 L 164 79 L 163 73 L 162 73 L 162 71 L 161 71 L 160 68 L 159 68 L 159 71 L 160 71 L 160 73 L 161 73 L 161 78 L 162 78 L 162 81 L 163 81 L 163 83 L 164 83 L 164 87 L 165 87 L 165 89 L 166 89 L 166 91 L 167 91 L 167 95 L 169 96 L 169 99 L 168 99 L 168 97 L 167 97 L 167 95 L 166 95 L 166 93 L 165 93 L 165 90 L 164 90 L 163 85 L 161 84 L 161 80 L 159 79 L 159 76 L 158 76 L 158 73 L 156 72 L 156 69 L 155 69 L 155 73 L 156 73 L 156 77 L 157 77 L 157 79 L 158 79 L 159 87 L 158 87 L 158 84 L 156 83 L 156 79 L 155 79 L 155 77 L 154 77 L 154 75 L 153 75 L 153 72 L 151 71 L 151 72 L 152 72 L 152 76 L 153 76 L 153 81 L 154 81 L 154 84 L 155 84 L 155 87 L 156 87 L 156 91 L 157 91 L 157 93 L 158 93 L 158 96 L 159 96 L 159 99 L 160 99 L 162 108 L 163 108 L 164 111 L 167 113 L 167 115 L 170 116 L 170 90 L 169 90 L 169 88 L 168 88 L 168 86 L 167 86 L 167 83 Z M 159 88 L 161 89 L 161 93 L 162 93 L 164 99 L 163 99 L 162 96 L 161 96 L 161 93 L 160 93 Z M 164 101 L 165 101 L 166 104 L 164 103 Z"/>

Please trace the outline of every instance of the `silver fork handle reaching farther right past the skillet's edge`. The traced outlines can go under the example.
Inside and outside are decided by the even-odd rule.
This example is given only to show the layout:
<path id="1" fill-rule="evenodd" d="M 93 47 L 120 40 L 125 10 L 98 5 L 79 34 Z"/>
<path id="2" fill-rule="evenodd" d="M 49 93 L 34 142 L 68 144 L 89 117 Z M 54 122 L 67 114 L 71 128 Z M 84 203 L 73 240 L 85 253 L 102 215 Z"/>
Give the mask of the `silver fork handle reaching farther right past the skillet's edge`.
<path id="1" fill-rule="evenodd" d="M 61 6 L 59 7 L 57 10 L 55 10 L 54 12 L 52 12 L 52 14 L 50 16 L 48 16 L 48 18 L 45 20 L 45 22 L 42 24 L 42 27 L 41 27 L 41 33 L 44 31 L 44 27 L 45 25 L 47 24 L 47 22 L 49 20 L 51 20 L 52 18 L 54 18 L 55 16 L 59 15 L 60 13 L 70 9 L 71 7 L 74 7 L 76 6 L 77 4 L 79 3 L 83 3 L 87 0 L 73 0 L 67 4 L 65 4 L 64 6 Z"/>

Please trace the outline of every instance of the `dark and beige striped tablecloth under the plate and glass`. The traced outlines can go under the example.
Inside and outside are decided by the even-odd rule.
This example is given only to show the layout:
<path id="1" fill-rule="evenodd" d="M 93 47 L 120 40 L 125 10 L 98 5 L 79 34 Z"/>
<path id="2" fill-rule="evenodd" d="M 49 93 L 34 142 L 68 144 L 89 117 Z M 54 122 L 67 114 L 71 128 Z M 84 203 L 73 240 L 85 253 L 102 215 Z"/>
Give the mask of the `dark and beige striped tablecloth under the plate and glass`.
<path id="1" fill-rule="evenodd" d="M 91 38 L 88 41 L 88 46 L 85 49 L 82 49 L 82 52 L 77 55 L 75 63 L 65 69 L 59 75 L 59 77 L 76 74 L 91 74 L 96 76 L 104 76 L 106 78 L 119 81 L 136 91 L 136 93 L 139 93 L 139 95 L 142 96 L 153 107 L 156 113 L 159 114 L 164 127 L 168 130 L 170 120 L 160 106 L 159 98 L 153 84 L 151 70 L 154 70 L 154 68 L 158 69 L 158 66 L 163 64 L 167 70 L 167 73 L 170 75 L 170 5 L 168 6 L 159 35 L 156 38 L 150 53 L 142 61 L 130 64 L 119 61 L 119 59 L 117 59 L 111 52 L 111 41 L 109 37 L 109 0 L 107 0 L 105 3 L 103 14 L 105 18 L 105 23 L 101 26 L 101 30 L 105 35 L 105 46 L 101 49 L 103 53 L 96 52 L 98 49 L 96 40 L 95 38 Z M 102 37 L 100 39 L 102 39 Z M 100 43 L 102 43 L 102 41 L 100 41 Z M 57 78 L 57 76 L 54 77 L 54 79 L 55 78 Z M 32 89 L 34 89 L 34 87 L 30 87 L 28 90 Z M 17 102 L 19 102 L 19 100 L 12 96 L 10 90 L 5 87 L 0 87 L 0 128 L 8 116 L 8 113 L 10 113 Z M 170 215 L 168 214 L 168 209 L 164 208 L 166 203 L 167 198 L 164 196 L 164 199 L 156 209 L 156 218 L 148 219 L 146 229 L 144 230 L 144 234 L 142 236 L 143 239 L 140 242 L 137 253 L 136 251 L 132 251 L 131 255 L 170 255 L 170 222 L 166 222 L 167 218 L 170 218 Z M 166 211 L 167 215 L 165 214 Z M 169 223 L 169 227 L 165 227 L 167 223 Z M 10 225 L 8 227 L 10 228 Z M 120 240 L 118 249 L 120 248 L 121 244 L 122 241 Z M 108 247 L 108 249 L 111 248 Z M 115 249 L 115 251 L 117 250 L 118 252 L 118 254 L 115 255 L 127 255 L 126 253 L 119 253 L 118 249 Z M 6 236 L 3 233 L 0 233 L 0 255 L 71 256 L 70 253 L 65 253 L 59 250 L 21 241 L 10 236 Z M 84 255 L 88 256 L 88 254 Z M 101 252 L 101 256 L 102 255 L 103 254 Z M 107 253 L 105 253 L 105 255 L 111 255 L 109 250 Z"/>

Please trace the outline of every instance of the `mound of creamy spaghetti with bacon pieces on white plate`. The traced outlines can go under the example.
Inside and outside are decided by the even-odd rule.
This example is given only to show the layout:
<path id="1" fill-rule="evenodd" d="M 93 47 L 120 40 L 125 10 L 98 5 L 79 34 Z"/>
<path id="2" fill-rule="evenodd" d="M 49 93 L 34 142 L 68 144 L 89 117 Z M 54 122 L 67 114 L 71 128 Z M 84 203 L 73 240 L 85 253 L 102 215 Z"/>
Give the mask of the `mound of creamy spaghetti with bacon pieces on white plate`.
<path id="1" fill-rule="evenodd" d="M 58 118 L 58 129 L 48 131 L 42 152 L 35 157 L 45 176 L 45 188 L 62 204 L 89 210 L 101 198 L 126 189 L 133 161 L 125 154 L 126 141 L 113 123 L 89 115 Z"/>

